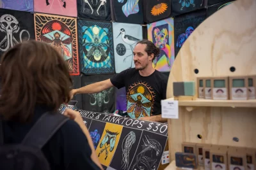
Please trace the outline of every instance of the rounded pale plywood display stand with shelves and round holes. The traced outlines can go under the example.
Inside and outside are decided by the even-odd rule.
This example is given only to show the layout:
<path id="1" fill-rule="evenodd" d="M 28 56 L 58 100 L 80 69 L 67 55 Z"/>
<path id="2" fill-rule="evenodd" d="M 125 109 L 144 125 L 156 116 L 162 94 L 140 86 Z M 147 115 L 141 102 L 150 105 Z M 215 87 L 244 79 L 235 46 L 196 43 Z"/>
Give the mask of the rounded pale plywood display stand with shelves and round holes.
<path id="1" fill-rule="evenodd" d="M 256 75 L 255 13 L 255 0 L 237 0 L 200 24 L 180 49 L 166 95 L 170 101 L 177 99 L 173 82 L 195 81 L 195 96 L 178 97 L 179 119 L 168 119 L 166 169 L 178 169 L 175 153 L 183 152 L 184 142 L 256 149 L 256 99 L 198 99 L 197 93 L 198 77 Z M 237 25 L 241 27 L 235 29 Z"/>

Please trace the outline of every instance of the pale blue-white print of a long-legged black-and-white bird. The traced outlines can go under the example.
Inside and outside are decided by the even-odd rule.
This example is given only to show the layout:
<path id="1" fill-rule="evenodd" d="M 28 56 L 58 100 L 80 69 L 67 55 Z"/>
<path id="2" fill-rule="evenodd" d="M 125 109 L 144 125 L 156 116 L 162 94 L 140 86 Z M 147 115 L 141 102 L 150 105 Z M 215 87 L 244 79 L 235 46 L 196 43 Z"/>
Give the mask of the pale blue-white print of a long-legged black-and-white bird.
<path id="1" fill-rule="evenodd" d="M 113 22 L 113 39 L 116 73 L 135 67 L 133 49 L 143 39 L 142 26 Z"/>

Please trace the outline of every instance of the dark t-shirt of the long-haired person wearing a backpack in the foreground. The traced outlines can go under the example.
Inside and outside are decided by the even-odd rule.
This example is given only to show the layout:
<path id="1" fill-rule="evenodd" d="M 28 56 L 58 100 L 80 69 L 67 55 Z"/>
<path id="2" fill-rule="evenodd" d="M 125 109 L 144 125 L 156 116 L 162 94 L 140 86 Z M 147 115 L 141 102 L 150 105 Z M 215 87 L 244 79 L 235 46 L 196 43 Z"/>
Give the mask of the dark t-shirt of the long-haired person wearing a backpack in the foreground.
<path id="1" fill-rule="evenodd" d="M 4 143 L 21 143 L 40 116 L 49 111 L 37 107 L 33 121 L 27 124 L 3 122 Z M 100 169 L 90 158 L 92 150 L 79 125 L 68 120 L 42 148 L 51 170 Z"/>

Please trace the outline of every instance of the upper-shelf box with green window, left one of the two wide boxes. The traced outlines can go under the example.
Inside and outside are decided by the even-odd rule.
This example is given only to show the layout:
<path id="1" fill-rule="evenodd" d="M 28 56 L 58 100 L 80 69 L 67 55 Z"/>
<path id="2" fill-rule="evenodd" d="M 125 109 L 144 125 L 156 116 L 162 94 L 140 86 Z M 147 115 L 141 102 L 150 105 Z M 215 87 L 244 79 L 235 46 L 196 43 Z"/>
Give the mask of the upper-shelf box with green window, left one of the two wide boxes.
<path id="1" fill-rule="evenodd" d="M 213 100 L 228 100 L 228 77 L 212 78 L 211 88 Z"/>

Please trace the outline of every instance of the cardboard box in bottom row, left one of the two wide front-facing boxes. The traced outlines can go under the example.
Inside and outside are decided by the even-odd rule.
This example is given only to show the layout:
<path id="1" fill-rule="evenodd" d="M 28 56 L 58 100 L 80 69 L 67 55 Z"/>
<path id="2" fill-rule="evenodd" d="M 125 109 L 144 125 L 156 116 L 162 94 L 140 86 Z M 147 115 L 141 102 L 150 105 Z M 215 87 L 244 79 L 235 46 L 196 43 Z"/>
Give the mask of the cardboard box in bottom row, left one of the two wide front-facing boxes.
<path id="1" fill-rule="evenodd" d="M 228 170 L 227 150 L 216 150 L 212 148 L 210 151 L 211 170 Z"/>

